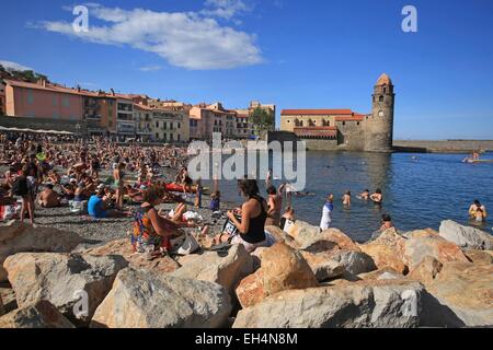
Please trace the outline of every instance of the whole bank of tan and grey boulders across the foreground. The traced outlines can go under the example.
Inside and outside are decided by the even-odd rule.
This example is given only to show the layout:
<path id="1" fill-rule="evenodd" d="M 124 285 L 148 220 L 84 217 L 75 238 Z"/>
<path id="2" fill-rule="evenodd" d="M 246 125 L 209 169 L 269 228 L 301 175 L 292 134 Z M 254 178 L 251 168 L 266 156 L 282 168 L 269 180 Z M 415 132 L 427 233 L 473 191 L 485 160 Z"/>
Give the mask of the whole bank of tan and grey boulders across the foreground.
<path id="1" fill-rule="evenodd" d="M 301 221 L 266 230 L 277 243 L 253 254 L 149 261 L 126 238 L 85 248 L 73 232 L 2 224 L 0 327 L 493 326 L 493 237 L 480 230 L 445 221 L 365 244 Z"/>

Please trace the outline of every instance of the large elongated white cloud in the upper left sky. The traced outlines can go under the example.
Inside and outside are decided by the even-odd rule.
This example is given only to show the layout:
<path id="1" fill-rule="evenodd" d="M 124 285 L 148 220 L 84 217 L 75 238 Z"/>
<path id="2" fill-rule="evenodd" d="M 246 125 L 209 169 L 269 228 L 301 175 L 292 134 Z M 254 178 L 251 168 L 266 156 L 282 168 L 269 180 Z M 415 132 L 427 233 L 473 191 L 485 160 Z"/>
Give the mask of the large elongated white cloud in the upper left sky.
<path id="1" fill-rule="evenodd" d="M 231 0 L 208 0 L 216 10 L 227 11 L 236 3 Z M 231 10 L 228 10 L 231 11 Z M 46 31 L 77 37 L 87 42 L 130 46 L 154 52 L 170 65 L 191 70 L 232 69 L 262 62 L 262 52 L 255 44 L 255 35 L 221 26 L 216 20 L 199 12 L 154 12 L 144 9 L 122 10 L 92 3 L 91 19 L 103 22 L 91 25 L 89 32 L 74 32 L 71 23 L 53 21 L 39 23 Z"/>

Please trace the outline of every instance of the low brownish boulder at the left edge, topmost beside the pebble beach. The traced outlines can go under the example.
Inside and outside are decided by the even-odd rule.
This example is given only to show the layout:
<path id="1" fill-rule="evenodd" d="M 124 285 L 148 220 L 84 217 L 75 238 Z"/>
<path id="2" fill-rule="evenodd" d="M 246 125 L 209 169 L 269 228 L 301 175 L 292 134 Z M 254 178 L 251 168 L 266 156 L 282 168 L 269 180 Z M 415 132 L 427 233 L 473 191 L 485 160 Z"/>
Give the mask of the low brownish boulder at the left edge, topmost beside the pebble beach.
<path id="1" fill-rule="evenodd" d="M 7 257 L 27 252 L 69 253 L 82 238 L 71 232 L 32 226 L 10 221 L 0 224 L 0 282 L 7 281 L 3 261 Z"/>

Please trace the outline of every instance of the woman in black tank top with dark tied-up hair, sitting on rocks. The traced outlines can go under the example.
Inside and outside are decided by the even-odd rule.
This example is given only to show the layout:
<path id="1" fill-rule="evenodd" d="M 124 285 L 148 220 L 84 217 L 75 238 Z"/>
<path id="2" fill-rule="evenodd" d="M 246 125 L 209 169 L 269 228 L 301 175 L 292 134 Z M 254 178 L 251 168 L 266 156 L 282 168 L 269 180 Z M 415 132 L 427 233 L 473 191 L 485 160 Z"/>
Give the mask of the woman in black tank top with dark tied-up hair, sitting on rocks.
<path id="1" fill-rule="evenodd" d="M 241 207 L 241 222 L 233 211 L 228 211 L 228 218 L 238 228 L 240 234 L 234 236 L 232 244 L 242 244 L 246 252 L 252 253 L 257 247 L 267 245 L 265 236 L 265 220 L 267 219 L 267 202 L 259 196 L 259 185 L 254 179 L 242 179 L 239 188 L 246 201 Z"/>

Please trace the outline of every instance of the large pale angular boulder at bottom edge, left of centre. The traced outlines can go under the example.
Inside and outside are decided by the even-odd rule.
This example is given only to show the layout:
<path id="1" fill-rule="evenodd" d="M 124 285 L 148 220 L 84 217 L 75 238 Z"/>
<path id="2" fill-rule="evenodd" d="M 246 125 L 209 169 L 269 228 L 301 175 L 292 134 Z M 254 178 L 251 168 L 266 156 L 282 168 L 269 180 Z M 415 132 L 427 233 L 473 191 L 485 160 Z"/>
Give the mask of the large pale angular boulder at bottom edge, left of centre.
<path id="1" fill-rule="evenodd" d="M 216 328 L 231 312 L 223 287 L 149 270 L 122 270 L 91 327 Z"/>

